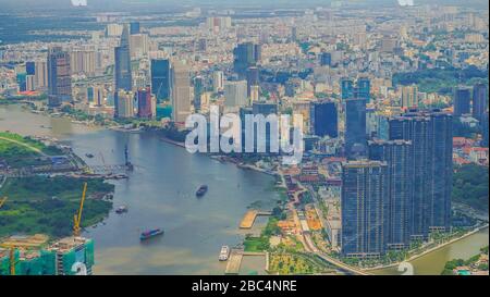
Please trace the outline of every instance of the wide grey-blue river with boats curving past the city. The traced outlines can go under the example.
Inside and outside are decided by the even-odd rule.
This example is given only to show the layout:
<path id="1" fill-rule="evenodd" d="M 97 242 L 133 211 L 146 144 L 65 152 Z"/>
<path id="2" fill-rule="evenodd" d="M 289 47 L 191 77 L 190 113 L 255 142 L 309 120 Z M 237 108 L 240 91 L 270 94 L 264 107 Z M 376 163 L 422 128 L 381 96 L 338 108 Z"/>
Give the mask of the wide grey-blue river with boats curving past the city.
<path id="1" fill-rule="evenodd" d="M 123 163 L 127 144 L 135 171 L 128 180 L 114 182 L 114 207 L 126 205 L 130 211 L 112 212 L 103 224 L 84 233 L 96 243 L 96 274 L 222 274 L 224 263 L 217 260 L 220 247 L 242 242 L 245 234 L 237 226 L 247 207 L 259 201 L 271 209 L 278 199 L 270 190 L 272 177 L 189 154 L 151 133 L 87 127 L 1 106 L 0 131 L 5 129 L 59 138 L 83 158 L 93 153 L 95 158 L 86 160 L 89 164 Z M 208 184 L 209 191 L 197 199 L 194 191 L 200 184 Z M 163 227 L 166 234 L 140 244 L 139 232 L 149 227 Z M 440 274 L 446 261 L 468 259 L 488 244 L 486 228 L 414 260 L 414 272 Z M 262 259 L 252 259 L 241 273 L 262 273 Z M 396 268 L 373 273 L 400 274 Z"/>

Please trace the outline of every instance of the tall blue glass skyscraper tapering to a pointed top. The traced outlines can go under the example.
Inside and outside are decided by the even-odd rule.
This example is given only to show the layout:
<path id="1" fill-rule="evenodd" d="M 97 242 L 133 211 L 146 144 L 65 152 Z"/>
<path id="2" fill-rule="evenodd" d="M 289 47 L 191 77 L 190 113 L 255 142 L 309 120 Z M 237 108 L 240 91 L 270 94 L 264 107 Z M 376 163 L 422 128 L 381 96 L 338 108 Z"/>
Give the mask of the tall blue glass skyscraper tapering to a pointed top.
<path id="1" fill-rule="evenodd" d="M 120 46 L 114 48 L 115 89 L 131 90 L 133 88 L 131 73 L 130 33 L 124 25 Z"/>

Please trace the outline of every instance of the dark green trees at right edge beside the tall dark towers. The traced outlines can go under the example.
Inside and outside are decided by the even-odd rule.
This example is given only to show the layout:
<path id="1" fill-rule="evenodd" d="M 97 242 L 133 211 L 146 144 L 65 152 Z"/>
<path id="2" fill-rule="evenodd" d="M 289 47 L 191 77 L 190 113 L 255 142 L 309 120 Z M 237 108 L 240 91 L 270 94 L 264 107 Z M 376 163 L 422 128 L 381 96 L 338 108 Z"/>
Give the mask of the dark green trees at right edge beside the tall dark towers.
<path id="1" fill-rule="evenodd" d="M 455 168 L 452 199 L 488 211 L 488 166 L 464 164 Z"/>

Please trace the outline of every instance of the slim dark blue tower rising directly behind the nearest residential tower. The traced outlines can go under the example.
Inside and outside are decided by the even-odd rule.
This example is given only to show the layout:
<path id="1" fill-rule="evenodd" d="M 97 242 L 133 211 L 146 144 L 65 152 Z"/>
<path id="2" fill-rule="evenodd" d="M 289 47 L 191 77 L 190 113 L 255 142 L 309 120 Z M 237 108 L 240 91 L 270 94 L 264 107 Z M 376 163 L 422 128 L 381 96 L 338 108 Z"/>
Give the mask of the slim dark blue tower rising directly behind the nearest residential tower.
<path id="1" fill-rule="evenodd" d="M 366 100 L 345 100 L 345 156 L 356 159 L 366 156 Z"/>

